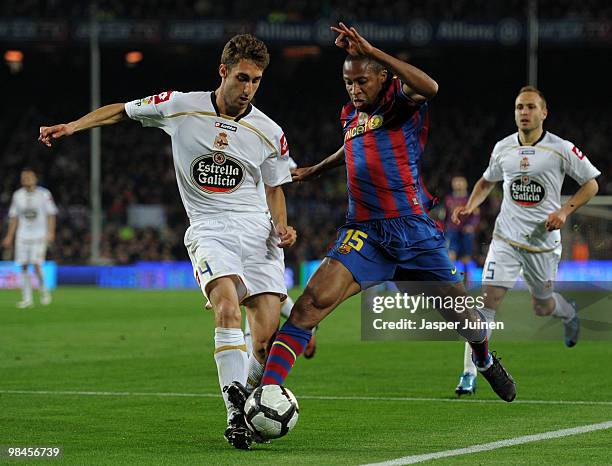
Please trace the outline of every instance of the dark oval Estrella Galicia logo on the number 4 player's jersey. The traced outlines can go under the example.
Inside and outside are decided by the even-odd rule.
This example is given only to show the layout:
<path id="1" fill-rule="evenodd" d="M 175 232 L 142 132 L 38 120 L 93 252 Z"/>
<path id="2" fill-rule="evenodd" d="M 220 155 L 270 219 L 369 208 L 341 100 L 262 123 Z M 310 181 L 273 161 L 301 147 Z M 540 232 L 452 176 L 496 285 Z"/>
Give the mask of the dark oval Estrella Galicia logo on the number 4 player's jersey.
<path id="1" fill-rule="evenodd" d="M 227 194 L 244 181 L 244 165 L 222 152 L 200 155 L 191 164 L 191 180 L 200 191 Z"/>

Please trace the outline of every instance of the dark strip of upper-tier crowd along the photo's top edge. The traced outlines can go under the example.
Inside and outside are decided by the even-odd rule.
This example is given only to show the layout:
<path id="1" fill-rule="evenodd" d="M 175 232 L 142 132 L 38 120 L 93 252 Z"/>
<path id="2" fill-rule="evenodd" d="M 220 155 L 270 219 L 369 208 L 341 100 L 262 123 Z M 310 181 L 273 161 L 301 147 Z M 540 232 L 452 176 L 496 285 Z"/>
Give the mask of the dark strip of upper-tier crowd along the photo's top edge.
<path id="1" fill-rule="evenodd" d="M 317 21 L 320 18 L 397 21 L 398 18 L 430 20 L 496 20 L 523 16 L 527 0 L 260 0 L 257 8 L 249 0 L 98 0 L 103 19 L 240 19 L 269 21 Z M 543 18 L 609 19 L 612 6 L 606 0 L 539 0 Z M 83 18 L 89 2 L 72 0 L 5 0 L 0 16 L 38 18 Z"/>

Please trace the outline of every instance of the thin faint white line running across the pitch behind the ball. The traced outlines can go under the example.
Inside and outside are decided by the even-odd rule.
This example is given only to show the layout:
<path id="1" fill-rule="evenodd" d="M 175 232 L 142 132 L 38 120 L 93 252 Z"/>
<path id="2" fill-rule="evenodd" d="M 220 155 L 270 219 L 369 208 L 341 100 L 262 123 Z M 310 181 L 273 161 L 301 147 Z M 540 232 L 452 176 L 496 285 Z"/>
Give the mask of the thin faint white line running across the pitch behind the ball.
<path id="1" fill-rule="evenodd" d="M 0 390 L 0 395 L 67 395 L 67 396 L 151 396 L 164 398 L 220 398 L 218 393 L 176 393 L 176 392 L 108 392 L 108 391 L 73 391 L 73 390 Z M 427 401 L 441 403 L 497 403 L 507 404 L 501 400 L 426 398 L 426 397 L 393 397 L 393 396 L 326 396 L 300 395 L 304 400 L 322 401 Z M 593 405 L 612 406 L 612 401 L 595 400 L 515 400 L 512 404 L 543 405 Z"/>

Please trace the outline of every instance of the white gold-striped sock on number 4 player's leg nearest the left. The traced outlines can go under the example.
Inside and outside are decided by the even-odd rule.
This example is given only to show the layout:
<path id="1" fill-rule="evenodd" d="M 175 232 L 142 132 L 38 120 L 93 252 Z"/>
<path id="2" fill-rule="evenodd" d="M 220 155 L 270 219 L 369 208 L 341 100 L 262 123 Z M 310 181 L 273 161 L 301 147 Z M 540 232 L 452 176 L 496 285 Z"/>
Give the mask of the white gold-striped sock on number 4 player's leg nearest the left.
<path id="1" fill-rule="evenodd" d="M 244 334 L 239 328 L 215 328 L 215 362 L 219 374 L 219 386 L 223 394 L 223 400 L 230 414 L 230 403 L 227 395 L 223 393 L 223 387 L 230 385 L 233 381 L 246 384 L 248 358 Z"/>

